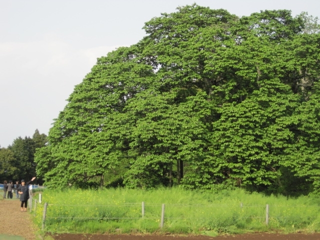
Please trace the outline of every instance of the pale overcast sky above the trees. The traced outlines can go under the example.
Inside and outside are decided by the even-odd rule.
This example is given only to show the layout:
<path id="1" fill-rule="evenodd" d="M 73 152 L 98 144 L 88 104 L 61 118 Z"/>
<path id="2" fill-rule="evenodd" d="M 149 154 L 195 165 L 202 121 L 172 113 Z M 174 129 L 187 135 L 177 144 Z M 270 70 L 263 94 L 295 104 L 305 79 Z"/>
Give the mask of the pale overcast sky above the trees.
<path id="1" fill-rule="evenodd" d="M 196 2 L 238 16 L 290 9 L 320 18 L 319 0 L 0 0 L 0 146 L 48 134 L 96 58 L 144 35 L 144 22 Z"/>

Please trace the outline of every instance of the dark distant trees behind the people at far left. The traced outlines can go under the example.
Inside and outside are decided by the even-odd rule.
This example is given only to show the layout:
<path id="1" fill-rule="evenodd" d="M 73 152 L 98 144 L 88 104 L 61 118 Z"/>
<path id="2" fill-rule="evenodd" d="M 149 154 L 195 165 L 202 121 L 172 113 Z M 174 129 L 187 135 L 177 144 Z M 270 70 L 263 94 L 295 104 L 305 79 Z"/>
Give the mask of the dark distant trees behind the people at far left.
<path id="1" fill-rule="evenodd" d="M 32 138 L 17 137 L 7 148 L 0 147 L 0 182 L 4 180 L 30 180 L 36 175 L 34 153 L 37 148 L 45 146 L 47 136 L 35 130 Z M 42 184 L 42 179 L 37 178 L 37 184 Z"/>

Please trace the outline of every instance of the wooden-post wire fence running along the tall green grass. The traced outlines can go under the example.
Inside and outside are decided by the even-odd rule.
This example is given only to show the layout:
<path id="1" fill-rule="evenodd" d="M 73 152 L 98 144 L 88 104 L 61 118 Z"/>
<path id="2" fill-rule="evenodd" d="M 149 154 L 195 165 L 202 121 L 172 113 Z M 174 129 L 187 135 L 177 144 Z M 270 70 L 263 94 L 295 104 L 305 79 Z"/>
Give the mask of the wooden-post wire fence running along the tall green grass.
<path id="1" fill-rule="evenodd" d="M 31 195 L 31 194 L 30 194 Z M 256 222 L 268 225 L 310 224 L 320 213 L 319 205 L 277 205 L 277 204 L 164 204 L 164 203 L 119 203 L 119 204 L 50 204 L 41 202 L 41 194 L 31 198 L 29 209 L 42 215 L 42 228 L 45 225 L 66 221 L 125 221 L 148 219 L 156 221 L 159 227 L 165 223 L 183 221 L 186 225 L 214 227 L 233 222 Z M 37 208 L 37 209 L 36 209 Z M 194 223 L 195 224 L 195 223 Z"/>

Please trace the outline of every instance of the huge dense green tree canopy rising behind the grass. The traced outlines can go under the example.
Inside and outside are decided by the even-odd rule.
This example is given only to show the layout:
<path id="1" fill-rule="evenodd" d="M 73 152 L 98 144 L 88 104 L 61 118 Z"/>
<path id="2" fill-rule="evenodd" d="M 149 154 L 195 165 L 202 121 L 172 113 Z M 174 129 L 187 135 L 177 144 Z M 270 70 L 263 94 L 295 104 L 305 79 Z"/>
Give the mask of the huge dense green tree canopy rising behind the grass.
<path id="1" fill-rule="evenodd" d="M 98 58 L 75 86 L 36 151 L 37 173 L 49 187 L 317 192 L 316 20 L 196 4 L 152 18 L 144 38 Z"/>

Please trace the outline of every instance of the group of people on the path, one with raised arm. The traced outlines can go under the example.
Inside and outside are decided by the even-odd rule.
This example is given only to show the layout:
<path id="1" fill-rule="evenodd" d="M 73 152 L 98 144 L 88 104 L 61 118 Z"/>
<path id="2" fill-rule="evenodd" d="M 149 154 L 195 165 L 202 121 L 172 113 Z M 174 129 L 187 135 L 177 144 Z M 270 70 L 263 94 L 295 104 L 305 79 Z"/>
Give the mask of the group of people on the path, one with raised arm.
<path id="1" fill-rule="evenodd" d="M 26 211 L 27 202 L 29 199 L 29 183 L 35 179 L 35 176 L 32 177 L 31 180 L 25 183 L 24 179 L 21 180 L 21 184 L 19 184 L 19 181 L 16 181 L 15 185 L 10 180 L 9 183 L 7 181 L 3 182 L 3 198 L 12 198 L 13 194 L 12 191 L 15 191 L 16 198 L 20 198 L 21 201 L 21 211 Z M 7 193 L 6 193 L 7 192 Z M 24 208 L 23 208 L 24 205 Z"/>

